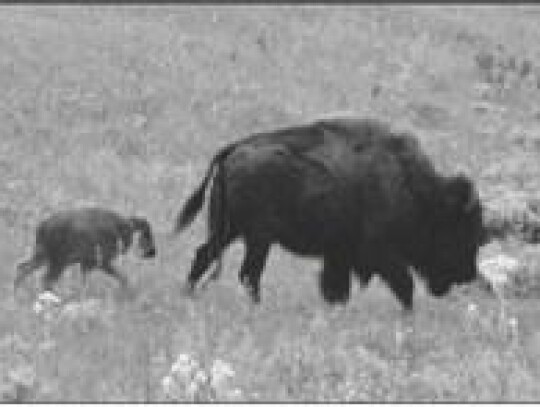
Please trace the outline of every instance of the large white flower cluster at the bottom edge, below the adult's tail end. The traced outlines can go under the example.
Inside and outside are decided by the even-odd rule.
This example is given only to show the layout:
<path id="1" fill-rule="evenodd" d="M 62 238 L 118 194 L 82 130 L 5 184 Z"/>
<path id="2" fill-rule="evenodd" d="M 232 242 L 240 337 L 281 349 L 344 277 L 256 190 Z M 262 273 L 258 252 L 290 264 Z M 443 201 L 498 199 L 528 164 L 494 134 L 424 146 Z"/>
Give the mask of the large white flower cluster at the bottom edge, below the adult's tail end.
<path id="1" fill-rule="evenodd" d="M 175 401 L 239 401 L 242 392 L 234 388 L 234 370 L 216 359 L 205 369 L 190 355 L 180 354 L 161 382 L 165 396 Z"/>

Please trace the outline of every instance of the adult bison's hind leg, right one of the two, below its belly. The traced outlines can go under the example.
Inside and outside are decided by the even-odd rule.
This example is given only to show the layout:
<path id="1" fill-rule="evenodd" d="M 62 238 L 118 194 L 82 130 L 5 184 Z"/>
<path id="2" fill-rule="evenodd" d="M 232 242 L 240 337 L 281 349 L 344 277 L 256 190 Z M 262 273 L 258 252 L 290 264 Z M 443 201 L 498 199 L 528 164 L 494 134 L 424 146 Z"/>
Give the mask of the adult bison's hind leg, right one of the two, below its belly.
<path id="1" fill-rule="evenodd" d="M 254 303 L 261 301 L 261 275 L 269 251 L 268 242 L 246 241 L 246 255 L 238 277 Z"/>

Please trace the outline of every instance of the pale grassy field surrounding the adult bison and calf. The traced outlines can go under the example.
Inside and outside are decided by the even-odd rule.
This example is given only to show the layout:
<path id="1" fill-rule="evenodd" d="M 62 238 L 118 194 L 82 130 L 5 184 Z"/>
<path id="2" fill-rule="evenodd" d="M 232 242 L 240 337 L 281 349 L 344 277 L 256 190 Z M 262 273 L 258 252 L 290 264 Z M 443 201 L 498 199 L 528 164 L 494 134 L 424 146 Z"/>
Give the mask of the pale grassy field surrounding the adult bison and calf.
<path id="1" fill-rule="evenodd" d="M 540 400 L 532 288 L 501 318 L 485 294 L 434 299 L 418 283 L 407 331 L 380 281 L 332 308 L 319 263 L 277 247 L 253 307 L 237 245 L 222 279 L 189 300 L 181 285 L 205 217 L 169 235 L 219 146 L 333 112 L 413 131 L 486 202 L 537 199 L 539 21 L 535 6 L 1 6 L 4 400 L 227 399 L 167 395 L 180 354 L 207 370 L 229 363 L 245 401 Z M 13 296 L 14 265 L 40 219 L 91 203 L 147 216 L 158 257 L 121 262 L 133 299 L 95 273 L 92 306 L 45 321 L 32 309 L 37 275 Z M 535 246 L 503 248 L 538 272 Z M 58 294 L 74 304 L 79 287 L 75 268 Z"/>

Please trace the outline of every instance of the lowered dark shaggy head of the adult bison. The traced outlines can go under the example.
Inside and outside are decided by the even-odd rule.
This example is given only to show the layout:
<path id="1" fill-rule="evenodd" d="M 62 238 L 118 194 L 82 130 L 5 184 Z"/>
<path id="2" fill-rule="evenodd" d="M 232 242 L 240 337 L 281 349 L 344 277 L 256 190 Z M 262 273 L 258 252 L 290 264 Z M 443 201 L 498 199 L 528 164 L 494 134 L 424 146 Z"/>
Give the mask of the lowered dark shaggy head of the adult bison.
<path id="1" fill-rule="evenodd" d="M 445 180 L 441 190 L 421 270 L 429 291 L 436 296 L 446 294 L 453 284 L 476 279 L 483 239 L 482 207 L 472 182 L 459 175 Z"/>

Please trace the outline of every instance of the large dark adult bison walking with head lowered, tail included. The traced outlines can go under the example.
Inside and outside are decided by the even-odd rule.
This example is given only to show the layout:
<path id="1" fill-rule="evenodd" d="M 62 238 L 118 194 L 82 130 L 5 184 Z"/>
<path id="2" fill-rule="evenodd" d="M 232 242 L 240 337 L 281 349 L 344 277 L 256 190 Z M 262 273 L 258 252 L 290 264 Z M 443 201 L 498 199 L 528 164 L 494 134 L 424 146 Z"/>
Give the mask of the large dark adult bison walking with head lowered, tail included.
<path id="1" fill-rule="evenodd" d="M 190 292 L 237 238 L 246 245 L 240 281 L 255 302 L 273 243 L 322 257 L 320 288 L 331 303 L 348 300 L 352 274 L 363 283 L 378 274 L 406 310 L 411 266 L 436 296 L 477 276 L 483 227 L 473 184 L 438 174 L 413 136 L 383 123 L 326 119 L 223 148 L 176 231 L 200 210 L 212 177 L 209 238 L 197 249 Z"/>

